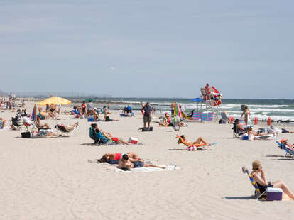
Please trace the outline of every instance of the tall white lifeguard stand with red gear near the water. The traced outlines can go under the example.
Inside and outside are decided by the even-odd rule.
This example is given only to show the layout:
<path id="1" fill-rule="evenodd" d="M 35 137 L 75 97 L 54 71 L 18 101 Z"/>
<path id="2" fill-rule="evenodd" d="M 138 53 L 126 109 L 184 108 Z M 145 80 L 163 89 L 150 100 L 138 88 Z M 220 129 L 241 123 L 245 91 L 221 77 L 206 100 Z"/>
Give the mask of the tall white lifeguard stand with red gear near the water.
<path id="1" fill-rule="evenodd" d="M 219 111 L 220 104 L 218 103 L 220 97 L 219 97 L 219 99 L 215 99 L 214 94 L 208 93 L 207 89 L 205 89 L 205 88 L 201 88 L 200 92 L 201 92 L 202 99 L 205 101 L 205 111 L 206 111 L 206 116 L 207 116 L 206 121 L 208 121 L 208 113 L 209 112 L 212 112 L 213 120 L 219 121 L 219 119 L 221 118 L 221 114 Z"/>

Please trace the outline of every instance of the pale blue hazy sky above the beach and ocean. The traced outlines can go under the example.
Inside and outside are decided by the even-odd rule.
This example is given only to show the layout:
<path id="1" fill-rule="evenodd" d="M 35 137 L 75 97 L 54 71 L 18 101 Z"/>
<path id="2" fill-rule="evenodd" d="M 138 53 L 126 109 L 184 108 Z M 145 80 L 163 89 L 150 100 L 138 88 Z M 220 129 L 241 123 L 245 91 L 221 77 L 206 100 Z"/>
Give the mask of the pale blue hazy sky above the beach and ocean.
<path id="1" fill-rule="evenodd" d="M 1 0 L 0 89 L 293 99 L 294 1 Z"/>

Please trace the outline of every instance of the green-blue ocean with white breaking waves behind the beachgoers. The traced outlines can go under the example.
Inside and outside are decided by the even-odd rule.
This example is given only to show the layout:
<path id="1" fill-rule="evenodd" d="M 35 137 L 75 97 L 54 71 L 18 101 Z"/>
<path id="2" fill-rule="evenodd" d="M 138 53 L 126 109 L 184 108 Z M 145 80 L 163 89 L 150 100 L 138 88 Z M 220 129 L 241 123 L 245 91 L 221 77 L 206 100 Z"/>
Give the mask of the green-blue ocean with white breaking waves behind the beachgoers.
<path id="1" fill-rule="evenodd" d="M 97 101 L 107 102 L 111 104 L 111 109 L 123 109 L 126 104 L 129 104 L 133 109 L 140 110 L 140 102 L 149 101 L 151 106 L 156 108 L 156 111 L 170 111 L 170 104 L 177 101 L 181 104 L 185 112 L 197 109 L 197 103 L 190 101 L 190 99 L 163 99 L 163 98 L 106 98 L 97 99 Z M 268 117 L 278 120 L 294 121 L 294 100 L 292 99 L 222 99 L 222 105 L 219 106 L 220 111 L 227 111 L 228 116 L 234 118 L 241 116 L 241 105 L 246 104 L 251 111 L 251 120 L 255 117 L 258 120 L 266 120 Z M 101 107 L 103 104 L 97 104 Z M 205 104 L 202 104 L 202 109 Z M 200 109 L 200 104 L 198 104 Z"/>

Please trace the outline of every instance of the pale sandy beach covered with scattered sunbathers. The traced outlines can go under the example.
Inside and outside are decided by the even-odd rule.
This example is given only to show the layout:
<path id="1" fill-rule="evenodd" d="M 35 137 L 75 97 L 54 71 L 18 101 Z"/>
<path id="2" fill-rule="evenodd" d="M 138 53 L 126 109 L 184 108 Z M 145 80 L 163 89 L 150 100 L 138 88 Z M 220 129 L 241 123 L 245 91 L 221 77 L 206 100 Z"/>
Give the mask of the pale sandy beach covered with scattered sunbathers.
<path id="1" fill-rule="evenodd" d="M 27 106 L 31 111 L 31 108 Z M 11 112 L 0 112 L 10 119 Z M 241 166 L 261 160 L 268 180 L 286 182 L 294 190 L 294 160 L 274 141 L 232 138 L 232 125 L 189 123 L 179 133 L 153 123 L 153 132 L 136 131 L 136 118 L 99 122 L 114 136 L 137 137 L 141 146 L 92 146 L 86 119 L 70 138 L 18 138 L 20 131 L 0 131 L 0 219 L 292 219 L 294 201 L 260 202 Z M 44 123 L 45 121 L 41 121 Z M 50 126 L 54 120 L 47 120 Z M 294 129 L 293 129 L 294 130 Z M 217 145 L 187 152 L 176 134 L 193 140 L 203 136 Z M 294 142 L 293 134 L 283 134 Z M 111 172 L 87 163 L 104 153 L 135 152 L 158 164 L 176 163 L 182 170 Z M 226 199 L 227 198 L 227 199 Z"/>

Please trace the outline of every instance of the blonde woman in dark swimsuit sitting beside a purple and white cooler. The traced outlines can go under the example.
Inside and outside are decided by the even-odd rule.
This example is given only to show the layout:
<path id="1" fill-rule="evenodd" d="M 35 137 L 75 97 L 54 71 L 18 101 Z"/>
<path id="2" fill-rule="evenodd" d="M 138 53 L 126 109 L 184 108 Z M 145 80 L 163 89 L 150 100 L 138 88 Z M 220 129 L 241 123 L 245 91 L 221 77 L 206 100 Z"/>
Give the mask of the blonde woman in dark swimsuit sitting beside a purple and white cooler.
<path id="1" fill-rule="evenodd" d="M 259 173 L 261 173 L 261 175 L 258 175 Z M 266 180 L 266 172 L 264 172 L 260 161 L 255 160 L 252 163 L 251 176 L 254 178 L 258 187 L 261 187 L 261 193 L 264 192 L 267 187 L 281 188 L 283 192 L 287 194 L 290 199 L 294 199 L 293 192 L 291 192 L 289 187 L 285 185 L 285 183 L 282 180 L 277 180 L 272 183 Z"/>

